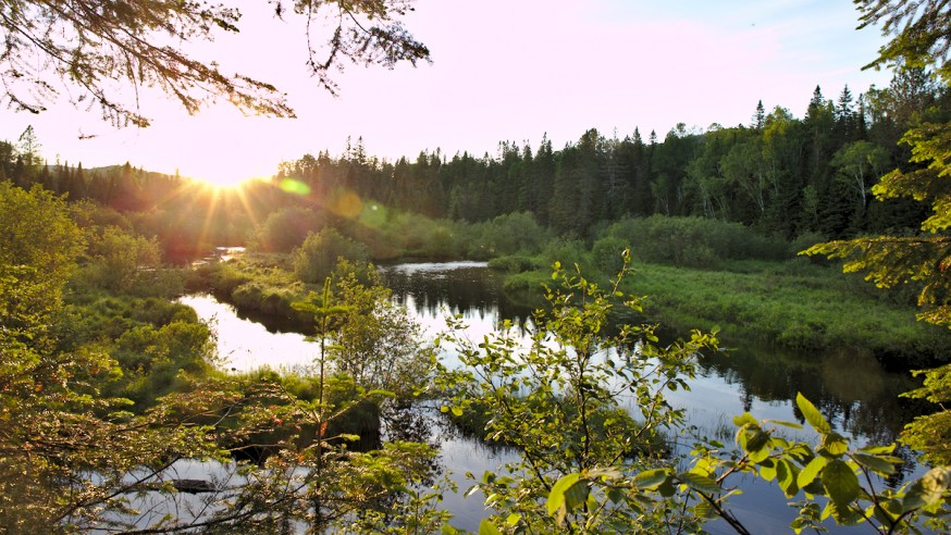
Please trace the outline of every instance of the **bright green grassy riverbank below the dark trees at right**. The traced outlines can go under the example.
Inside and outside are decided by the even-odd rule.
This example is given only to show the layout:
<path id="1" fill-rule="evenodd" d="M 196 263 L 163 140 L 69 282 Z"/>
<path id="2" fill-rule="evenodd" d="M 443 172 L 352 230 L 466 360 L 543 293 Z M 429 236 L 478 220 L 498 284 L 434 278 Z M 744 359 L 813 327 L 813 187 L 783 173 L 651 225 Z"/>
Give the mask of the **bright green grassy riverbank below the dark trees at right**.
<path id="1" fill-rule="evenodd" d="M 730 262 L 718 270 L 635 262 L 623 289 L 646 296 L 643 320 L 678 332 L 718 326 L 727 343 L 864 350 L 893 369 L 935 365 L 951 349 L 948 329 L 916 321 L 913 303 L 901 296 L 807 259 Z M 508 273 L 504 284 L 507 295 L 531 302 L 534 288 L 549 281 L 546 270 L 533 270 Z"/>

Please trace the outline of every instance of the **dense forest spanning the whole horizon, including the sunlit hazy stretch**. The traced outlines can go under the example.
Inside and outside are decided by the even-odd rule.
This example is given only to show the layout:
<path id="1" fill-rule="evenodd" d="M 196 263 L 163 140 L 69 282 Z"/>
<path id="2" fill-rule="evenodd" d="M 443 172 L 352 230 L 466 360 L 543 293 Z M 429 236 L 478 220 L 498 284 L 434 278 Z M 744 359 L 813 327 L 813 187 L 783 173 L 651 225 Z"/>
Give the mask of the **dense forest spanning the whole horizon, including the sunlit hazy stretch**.
<path id="1" fill-rule="evenodd" d="M 543 137 L 534 149 L 503 141 L 497 154 L 481 157 L 436 149 L 388 162 L 367 154 L 358 138 L 338 157 L 321 151 L 282 163 L 240 199 L 234 191 L 185 195 L 183 185 L 194 183 L 128 163 L 50 164 L 28 129 L 0 142 L 0 178 L 140 213 L 144 234 L 182 247 L 243 244 L 268 214 L 288 207 L 322 212 L 324 221 L 356 219 L 367 206 L 470 223 L 528 212 L 556 234 L 581 238 L 605 222 L 651 214 L 738 222 L 785 239 L 917 226 L 916 203 L 872 202 L 870 188 L 885 172 L 910 165 L 899 140 L 911 124 L 949 116 L 948 91 L 928 73 L 901 71 L 889 87 L 857 98 L 844 87 L 827 99 L 816 87 L 802 119 L 782 107 L 767 112 L 762 102 L 751 110 L 749 125 L 679 124 L 646 140 L 638 128 L 622 138 L 591 129 L 560 149 Z"/>

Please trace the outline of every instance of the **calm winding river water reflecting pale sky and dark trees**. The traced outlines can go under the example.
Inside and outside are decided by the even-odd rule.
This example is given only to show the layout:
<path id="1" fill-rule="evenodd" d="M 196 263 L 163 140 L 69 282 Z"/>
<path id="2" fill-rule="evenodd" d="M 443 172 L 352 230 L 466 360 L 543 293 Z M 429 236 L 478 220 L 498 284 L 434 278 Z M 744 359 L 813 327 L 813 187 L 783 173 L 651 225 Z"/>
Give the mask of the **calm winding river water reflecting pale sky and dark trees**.
<path id="1" fill-rule="evenodd" d="M 515 323 L 530 321 L 530 310 L 505 299 L 499 281 L 484 263 L 400 264 L 387 268 L 385 276 L 394 289 L 395 301 L 405 306 L 431 334 L 445 327 L 446 314 L 460 314 L 472 338 L 491 333 L 504 319 Z M 210 296 L 188 296 L 182 301 L 217 326 L 224 368 L 306 368 L 317 357 L 316 345 L 306 341 L 304 335 L 275 332 L 273 327 L 269 331 L 260 323 L 239 318 L 231 306 Z M 798 391 L 810 398 L 833 427 L 853 437 L 860 446 L 894 440 L 914 413 L 909 400 L 897 397 L 913 386 L 910 380 L 887 373 L 875 359 L 857 351 L 802 353 L 742 347 L 731 348 L 725 354 L 702 357 L 699 364 L 691 390 L 669 393 L 667 399 L 687 409 L 690 423 L 707 434 L 726 431 L 729 438 L 725 441 L 732 437 L 732 416 L 744 411 L 759 419 L 802 422 L 794 403 Z M 505 462 L 515 460 L 516 455 L 454 436 L 440 427 L 434 425 L 433 433 L 440 435 L 442 460 L 460 492 L 458 496 L 447 496 L 443 505 L 454 512 L 454 525 L 477 531 L 484 515 L 481 496 L 461 497 L 471 486 L 464 474 L 468 471 L 480 476 L 485 470 L 497 471 Z M 812 439 L 808 432 L 801 432 L 799 437 Z M 899 455 L 909 459 L 902 474 L 919 471 L 910 452 Z M 788 531 L 794 515 L 775 485 L 745 481 L 741 486 L 745 493 L 731 500 L 733 510 L 753 533 Z M 714 533 L 732 533 L 726 526 L 709 527 Z M 831 533 L 840 531 L 831 528 Z"/>

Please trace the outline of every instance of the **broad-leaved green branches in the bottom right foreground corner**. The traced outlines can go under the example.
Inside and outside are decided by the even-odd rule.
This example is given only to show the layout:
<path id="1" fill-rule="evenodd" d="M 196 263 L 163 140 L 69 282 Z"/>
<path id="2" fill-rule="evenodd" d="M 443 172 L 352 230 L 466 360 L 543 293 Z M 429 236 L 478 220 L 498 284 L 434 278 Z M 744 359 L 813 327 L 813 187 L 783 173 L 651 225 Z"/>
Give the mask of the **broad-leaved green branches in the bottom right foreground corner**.
<path id="1" fill-rule="evenodd" d="M 644 513 L 677 499 L 688 503 L 697 518 L 716 517 L 737 533 L 750 533 L 729 508 L 729 497 L 739 493 L 729 480 L 749 474 L 775 482 L 789 499 L 800 493 L 805 496 L 805 500 L 790 503 L 799 509 L 790 525 L 794 533 L 825 531 L 822 522 L 829 518 L 841 525 L 868 523 L 877 533 L 889 534 L 919 533 L 922 522 L 943 525 L 951 514 L 951 470 L 935 468 L 898 489 L 889 488 L 881 478 L 894 474 L 902 462 L 891 455 L 893 445 L 852 449 L 802 395 L 796 405 L 818 434 L 815 445 L 788 440 L 776 433 L 777 426 L 799 428 L 799 424 L 761 422 L 745 413 L 733 419 L 740 451 L 727 457 L 722 444 L 699 441 L 690 452 L 692 461 L 687 470 L 664 466 L 625 475 L 630 474 L 630 466 L 625 465 L 567 474 L 548 493 L 549 514 L 559 520 L 569 513 L 588 518 L 608 500 L 614 507 Z M 572 498 L 578 487 L 595 498 Z M 828 499 L 824 508 L 817 497 Z"/>

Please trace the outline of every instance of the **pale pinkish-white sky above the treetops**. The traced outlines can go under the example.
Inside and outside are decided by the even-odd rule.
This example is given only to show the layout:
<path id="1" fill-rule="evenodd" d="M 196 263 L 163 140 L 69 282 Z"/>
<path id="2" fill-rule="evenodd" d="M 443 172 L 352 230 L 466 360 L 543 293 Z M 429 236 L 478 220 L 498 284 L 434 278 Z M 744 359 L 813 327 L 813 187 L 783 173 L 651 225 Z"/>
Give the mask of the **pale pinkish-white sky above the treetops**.
<path id="1" fill-rule="evenodd" d="M 232 183 L 306 153 L 342 154 L 348 137 L 391 162 L 436 148 L 495 155 L 499 141 L 535 148 L 543 135 L 558 149 L 589 128 L 663 139 L 678 123 L 749 124 L 759 100 L 802 117 L 817 85 L 836 99 L 845 85 L 857 96 L 891 79 L 862 71 L 886 39 L 855 29 L 851 0 L 417 0 L 404 24 L 432 64 L 349 64 L 332 97 L 307 72 L 302 28 L 274 20 L 267 2 L 242 5 L 239 35 L 194 50 L 274 84 L 297 119 L 249 117 L 226 102 L 189 116 L 156 95 L 141 102 L 147 128 L 58 103 L 39 115 L 0 109 L 0 139 L 33 125 L 50 163 L 128 161 Z"/>

